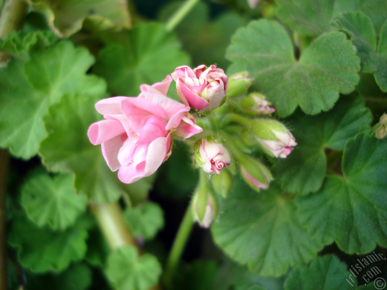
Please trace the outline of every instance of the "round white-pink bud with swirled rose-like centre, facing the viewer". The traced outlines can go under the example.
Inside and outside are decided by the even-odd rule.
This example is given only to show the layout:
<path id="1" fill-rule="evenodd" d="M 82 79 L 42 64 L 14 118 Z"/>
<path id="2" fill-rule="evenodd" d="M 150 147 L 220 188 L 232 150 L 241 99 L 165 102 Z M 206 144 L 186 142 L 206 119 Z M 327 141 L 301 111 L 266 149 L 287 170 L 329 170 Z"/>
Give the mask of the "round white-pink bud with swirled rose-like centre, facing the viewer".
<path id="1" fill-rule="evenodd" d="M 209 174 L 219 174 L 231 162 L 227 149 L 212 136 L 197 141 L 194 150 L 195 167 L 202 168 Z"/>

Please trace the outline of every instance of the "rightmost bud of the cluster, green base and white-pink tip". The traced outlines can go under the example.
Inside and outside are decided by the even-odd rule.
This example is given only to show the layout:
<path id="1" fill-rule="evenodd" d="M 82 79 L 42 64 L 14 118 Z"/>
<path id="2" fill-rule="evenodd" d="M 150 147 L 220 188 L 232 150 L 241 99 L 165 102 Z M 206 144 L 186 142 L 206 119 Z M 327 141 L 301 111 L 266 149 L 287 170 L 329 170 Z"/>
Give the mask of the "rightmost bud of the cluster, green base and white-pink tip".
<path id="1" fill-rule="evenodd" d="M 289 130 L 282 123 L 273 119 L 256 119 L 250 130 L 262 149 L 277 158 L 286 158 L 297 145 Z"/>

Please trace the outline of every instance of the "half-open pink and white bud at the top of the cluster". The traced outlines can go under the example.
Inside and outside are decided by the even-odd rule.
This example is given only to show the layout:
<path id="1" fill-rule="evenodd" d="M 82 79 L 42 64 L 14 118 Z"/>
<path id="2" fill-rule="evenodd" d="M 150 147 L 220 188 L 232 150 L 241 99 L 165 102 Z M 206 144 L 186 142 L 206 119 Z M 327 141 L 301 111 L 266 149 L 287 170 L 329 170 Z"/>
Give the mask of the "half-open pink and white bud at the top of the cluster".
<path id="1" fill-rule="evenodd" d="M 177 94 L 186 106 L 211 111 L 219 107 L 226 96 L 228 77 L 216 65 L 200 65 L 193 70 L 185 65 L 176 68 L 171 75 Z"/>

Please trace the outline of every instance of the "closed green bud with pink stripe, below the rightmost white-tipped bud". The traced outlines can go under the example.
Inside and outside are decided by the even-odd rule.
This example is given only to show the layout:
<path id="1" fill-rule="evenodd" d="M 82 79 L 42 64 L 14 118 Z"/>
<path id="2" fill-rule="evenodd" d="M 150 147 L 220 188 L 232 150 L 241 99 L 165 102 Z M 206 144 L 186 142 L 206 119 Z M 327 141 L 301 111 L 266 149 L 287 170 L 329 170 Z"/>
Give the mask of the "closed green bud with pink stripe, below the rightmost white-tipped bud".
<path id="1" fill-rule="evenodd" d="M 259 191 L 260 189 L 267 189 L 269 187 L 273 176 L 264 164 L 247 156 L 238 160 L 238 162 L 241 176 L 251 188 Z"/>

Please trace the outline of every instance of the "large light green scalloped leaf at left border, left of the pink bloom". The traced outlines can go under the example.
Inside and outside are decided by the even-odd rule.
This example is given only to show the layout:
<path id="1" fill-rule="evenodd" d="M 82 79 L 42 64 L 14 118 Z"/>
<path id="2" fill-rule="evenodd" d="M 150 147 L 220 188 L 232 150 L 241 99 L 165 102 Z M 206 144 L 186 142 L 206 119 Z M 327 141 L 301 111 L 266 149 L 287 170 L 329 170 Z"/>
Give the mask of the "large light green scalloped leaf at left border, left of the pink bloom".
<path id="1" fill-rule="evenodd" d="M 48 107 L 82 91 L 93 78 L 85 75 L 93 62 L 87 49 L 62 41 L 0 68 L 0 146 L 16 157 L 34 156 L 47 136 L 42 118 Z"/>

